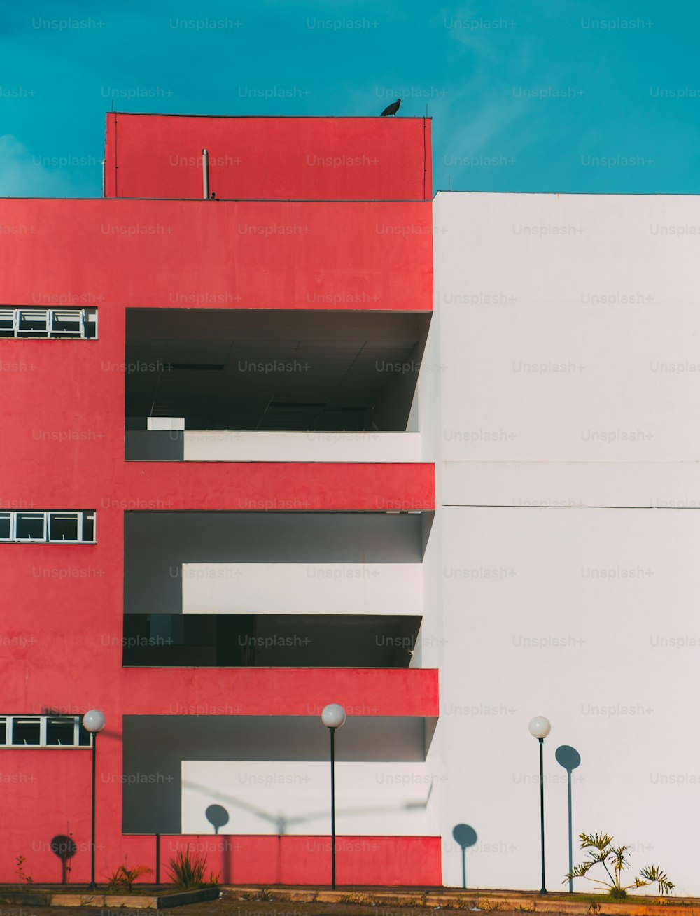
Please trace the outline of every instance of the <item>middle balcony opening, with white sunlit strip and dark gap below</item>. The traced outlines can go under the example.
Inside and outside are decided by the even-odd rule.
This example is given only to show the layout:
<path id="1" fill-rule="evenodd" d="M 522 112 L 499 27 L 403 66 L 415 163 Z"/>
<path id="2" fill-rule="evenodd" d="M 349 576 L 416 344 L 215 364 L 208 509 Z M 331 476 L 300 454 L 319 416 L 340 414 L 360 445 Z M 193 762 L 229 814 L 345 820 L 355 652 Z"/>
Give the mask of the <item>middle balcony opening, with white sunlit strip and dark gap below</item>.
<path id="1" fill-rule="evenodd" d="M 409 668 L 421 515 L 126 512 L 127 667 Z"/>

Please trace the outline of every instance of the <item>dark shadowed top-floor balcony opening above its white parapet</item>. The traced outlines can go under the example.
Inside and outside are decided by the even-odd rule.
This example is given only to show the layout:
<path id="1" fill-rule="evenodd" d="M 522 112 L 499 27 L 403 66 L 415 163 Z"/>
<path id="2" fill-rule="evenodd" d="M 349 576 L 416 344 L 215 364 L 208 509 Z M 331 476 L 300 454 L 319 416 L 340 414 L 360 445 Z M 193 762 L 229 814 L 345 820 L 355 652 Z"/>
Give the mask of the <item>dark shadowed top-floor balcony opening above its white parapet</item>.
<path id="1" fill-rule="evenodd" d="M 429 322 L 391 312 L 129 309 L 126 457 L 178 460 L 180 430 L 418 431 Z"/>

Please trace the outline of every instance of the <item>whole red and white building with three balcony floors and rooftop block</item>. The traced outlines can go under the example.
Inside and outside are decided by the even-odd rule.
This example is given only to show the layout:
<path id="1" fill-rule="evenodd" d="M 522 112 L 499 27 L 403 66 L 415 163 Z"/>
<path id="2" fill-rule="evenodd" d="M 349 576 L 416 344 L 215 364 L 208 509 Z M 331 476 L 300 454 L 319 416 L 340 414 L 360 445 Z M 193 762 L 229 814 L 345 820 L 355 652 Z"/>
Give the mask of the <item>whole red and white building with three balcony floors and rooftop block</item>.
<path id="1" fill-rule="evenodd" d="M 329 883 L 341 703 L 340 885 L 460 884 L 468 823 L 470 886 L 539 888 L 544 714 L 550 889 L 569 745 L 574 833 L 700 892 L 695 198 L 112 113 L 104 199 L 0 222 L 0 879 L 89 878 L 98 708 L 98 879 Z"/>

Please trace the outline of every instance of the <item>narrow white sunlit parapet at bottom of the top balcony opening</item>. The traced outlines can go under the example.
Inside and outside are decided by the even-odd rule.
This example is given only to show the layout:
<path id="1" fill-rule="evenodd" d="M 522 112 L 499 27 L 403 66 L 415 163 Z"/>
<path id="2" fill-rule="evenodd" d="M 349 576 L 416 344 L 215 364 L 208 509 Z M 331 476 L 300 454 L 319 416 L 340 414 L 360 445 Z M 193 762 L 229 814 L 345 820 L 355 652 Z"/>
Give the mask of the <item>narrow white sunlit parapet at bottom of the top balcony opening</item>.
<path id="1" fill-rule="evenodd" d="M 421 461 L 418 432 L 186 431 L 185 461 Z"/>

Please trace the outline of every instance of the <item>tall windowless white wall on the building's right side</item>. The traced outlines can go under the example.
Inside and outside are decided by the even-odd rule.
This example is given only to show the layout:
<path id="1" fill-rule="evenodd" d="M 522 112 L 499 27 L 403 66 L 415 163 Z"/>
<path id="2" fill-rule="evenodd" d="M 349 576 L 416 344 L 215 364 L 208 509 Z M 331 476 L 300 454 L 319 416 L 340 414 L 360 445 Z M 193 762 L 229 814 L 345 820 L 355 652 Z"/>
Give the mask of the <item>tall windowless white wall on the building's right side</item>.
<path id="1" fill-rule="evenodd" d="M 443 881 L 465 822 L 472 887 L 539 887 L 543 714 L 548 887 L 569 744 L 574 834 L 700 893 L 700 199 L 439 193 L 434 222 Z"/>

